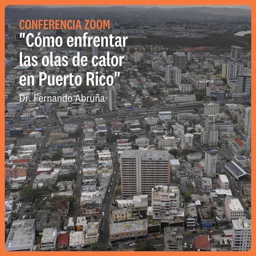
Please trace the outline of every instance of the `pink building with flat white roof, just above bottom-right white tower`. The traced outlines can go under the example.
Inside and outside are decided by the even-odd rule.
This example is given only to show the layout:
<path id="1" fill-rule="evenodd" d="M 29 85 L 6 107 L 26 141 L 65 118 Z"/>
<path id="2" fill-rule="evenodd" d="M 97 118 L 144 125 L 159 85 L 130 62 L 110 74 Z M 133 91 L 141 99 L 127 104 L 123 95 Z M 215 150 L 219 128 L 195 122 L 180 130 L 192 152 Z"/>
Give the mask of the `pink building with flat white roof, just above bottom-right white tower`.
<path id="1" fill-rule="evenodd" d="M 238 198 L 226 196 L 225 212 L 229 221 L 244 217 L 244 208 Z"/>

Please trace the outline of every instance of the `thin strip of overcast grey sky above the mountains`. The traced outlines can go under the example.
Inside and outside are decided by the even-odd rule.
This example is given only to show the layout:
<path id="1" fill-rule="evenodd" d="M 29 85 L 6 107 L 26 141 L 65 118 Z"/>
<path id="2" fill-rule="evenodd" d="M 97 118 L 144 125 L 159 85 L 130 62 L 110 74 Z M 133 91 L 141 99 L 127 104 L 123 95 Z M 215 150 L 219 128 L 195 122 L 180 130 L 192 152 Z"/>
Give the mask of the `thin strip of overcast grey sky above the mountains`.
<path id="1" fill-rule="evenodd" d="M 71 6 L 86 6 L 86 5 L 68 5 Z M 99 7 L 99 5 L 90 5 L 91 7 Z M 182 8 L 182 7 L 226 7 L 226 8 L 242 8 L 242 9 L 251 9 L 249 5 L 100 5 L 100 7 L 109 7 L 109 6 L 126 6 L 126 7 L 159 7 L 159 8 Z M 29 8 L 29 7 L 47 7 L 47 8 L 60 8 L 65 7 L 65 5 L 8 5 L 9 8 Z"/>

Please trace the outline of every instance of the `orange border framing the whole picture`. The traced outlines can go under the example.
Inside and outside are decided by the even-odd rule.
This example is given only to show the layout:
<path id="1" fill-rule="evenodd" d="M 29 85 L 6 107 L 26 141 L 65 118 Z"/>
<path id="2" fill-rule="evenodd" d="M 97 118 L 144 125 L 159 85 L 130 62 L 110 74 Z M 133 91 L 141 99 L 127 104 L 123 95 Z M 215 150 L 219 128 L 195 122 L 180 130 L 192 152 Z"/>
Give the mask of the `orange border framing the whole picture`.
<path id="1" fill-rule="evenodd" d="M 0 115 L 1 115 L 1 119 L 4 120 L 4 9 L 7 5 L 12 5 L 12 4 L 16 4 L 16 5 L 92 5 L 92 2 L 90 1 L 90 3 L 86 3 L 86 1 L 82 1 L 82 0 L 73 0 L 73 1 L 68 1 L 68 0 L 44 0 L 43 2 L 35 2 L 33 0 L 23 0 L 23 1 L 19 1 L 19 0 L 2 0 L 1 1 L 1 9 L 0 9 L 0 19 L 1 19 L 1 34 L 0 34 L 0 49 L 1 49 L 1 62 L 0 62 L 0 77 L 1 77 L 1 81 L 2 81 L 2 85 L 1 85 L 1 102 L 0 102 Z M 179 5 L 249 5 L 251 6 L 251 11 L 252 11 L 252 30 L 255 31 L 256 30 L 256 3 L 253 0 L 245 0 L 245 1 L 239 1 L 239 0 L 211 0 L 211 1 L 205 1 L 205 0 L 195 0 L 193 2 L 188 1 L 188 0 L 183 0 L 182 2 L 171 2 L 170 0 L 159 0 L 159 1 L 153 1 L 153 0 L 123 0 L 123 1 L 117 1 L 117 0 L 110 0 L 110 1 L 104 1 L 104 0 L 98 0 L 97 2 L 93 3 L 93 5 L 175 5 L 175 4 L 179 4 Z M 85 17 L 86 18 L 86 17 Z M 256 38 L 255 38 L 255 34 L 254 32 L 252 33 L 252 69 L 254 70 L 253 76 L 252 76 L 252 98 L 256 97 L 256 90 L 254 88 L 254 85 L 256 84 L 256 79 L 254 76 L 255 73 L 255 62 L 256 62 L 256 54 L 255 52 L 255 48 L 256 48 Z M 252 106 L 252 116 L 254 116 L 255 114 L 255 106 Z M 255 133 L 256 133 L 256 128 L 255 128 L 255 122 L 256 119 L 252 118 L 252 154 L 253 156 L 255 156 L 255 148 L 256 148 L 256 141 L 255 141 Z M 0 126 L 0 132 L 1 132 L 1 141 L 4 143 L 4 133 L 5 129 L 4 129 L 4 122 L 2 122 L 1 126 Z M 45 255 L 47 254 L 47 252 L 7 252 L 4 248 L 4 147 L 1 147 L 1 154 L 0 154 L 0 161 L 1 161 L 1 165 L 2 165 L 2 172 L 1 172 L 1 192 L 0 192 L 0 200 L 1 200 L 1 204 L 0 204 L 0 209 L 1 209 L 1 221 L 0 221 L 0 227 L 1 227 L 1 233 L 0 233 L 0 241 L 1 241 L 1 253 L 2 255 L 13 255 L 13 256 L 20 256 L 20 255 L 26 255 L 28 254 L 32 254 L 32 255 Z M 252 166 L 254 167 L 255 165 L 255 160 L 252 158 Z M 254 170 L 253 170 L 254 171 Z M 256 193 L 256 189 L 254 188 L 255 185 L 255 174 L 253 174 L 252 176 L 252 198 L 255 197 Z M 254 201 L 255 202 L 255 201 Z M 202 254 L 207 254 L 207 255 L 218 255 L 219 253 L 221 255 L 225 255 L 225 256 L 234 256 L 234 255 L 256 255 L 256 247 L 255 247 L 255 235 L 256 235 L 256 228 L 254 228 L 254 223 L 255 223 L 255 218 L 254 218 L 254 214 L 255 214 L 255 207 L 254 207 L 254 202 L 252 204 L 252 220 L 253 220 L 253 229 L 252 229 L 252 249 L 248 252 L 199 252 L 201 255 Z M 48 252 L 49 253 L 49 252 Z M 111 254 L 116 254 L 116 255 L 131 255 L 131 254 L 135 254 L 135 255 L 156 255 L 156 253 L 159 254 L 159 252 L 53 252 L 51 253 L 51 255 L 74 255 L 76 253 L 83 253 L 83 254 L 87 254 L 87 255 L 111 255 Z M 162 252 L 165 255 L 167 254 L 173 254 L 175 252 Z M 179 254 L 185 255 L 198 255 L 198 252 L 177 252 Z"/>

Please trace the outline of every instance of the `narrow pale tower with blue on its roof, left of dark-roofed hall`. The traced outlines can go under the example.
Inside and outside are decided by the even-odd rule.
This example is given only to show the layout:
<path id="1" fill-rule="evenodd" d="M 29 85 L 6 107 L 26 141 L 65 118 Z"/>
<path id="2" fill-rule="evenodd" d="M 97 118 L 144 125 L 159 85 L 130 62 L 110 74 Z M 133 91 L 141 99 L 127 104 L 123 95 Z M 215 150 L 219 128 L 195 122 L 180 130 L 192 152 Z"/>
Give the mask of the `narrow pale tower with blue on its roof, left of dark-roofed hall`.
<path id="1" fill-rule="evenodd" d="M 210 152 L 205 152 L 204 155 L 204 172 L 207 173 L 208 177 L 216 175 L 216 169 L 220 165 L 220 156 L 216 153 L 215 150 Z"/>

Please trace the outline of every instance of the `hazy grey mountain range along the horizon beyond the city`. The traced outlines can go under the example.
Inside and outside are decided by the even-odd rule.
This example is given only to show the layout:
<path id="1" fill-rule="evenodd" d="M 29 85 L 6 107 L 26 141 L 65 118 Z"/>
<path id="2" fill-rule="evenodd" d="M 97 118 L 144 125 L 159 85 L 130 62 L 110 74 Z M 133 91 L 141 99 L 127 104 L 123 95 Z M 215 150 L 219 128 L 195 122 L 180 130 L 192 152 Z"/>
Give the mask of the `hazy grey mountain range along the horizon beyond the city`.
<path id="1" fill-rule="evenodd" d="M 28 15 L 36 15 L 47 13 L 48 15 L 53 15 L 56 13 L 64 14 L 68 13 L 69 15 L 102 15 L 107 14 L 106 16 L 121 16 L 128 14 L 140 14 L 143 15 L 152 15 L 152 17 L 157 17 L 158 15 L 167 15 L 172 18 L 175 17 L 187 17 L 187 18 L 216 18 L 216 17 L 239 17 L 243 16 L 244 18 L 251 17 L 251 10 L 242 9 L 242 8 L 220 8 L 220 7 L 182 7 L 182 8 L 159 8 L 159 7 L 151 7 L 151 8 L 143 8 L 143 7 L 126 7 L 126 6 L 109 6 L 109 7 L 91 7 L 91 6 L 77 6 L 77 7 L 60 7 L 60 8 L 45 8 L 45 7 L 29 7 L 29 8 L 5 8 L 5 14 L 22 14 L 23 16 Z M 75 16 L 74 16 L 75 17 Z"/>

